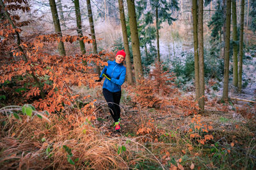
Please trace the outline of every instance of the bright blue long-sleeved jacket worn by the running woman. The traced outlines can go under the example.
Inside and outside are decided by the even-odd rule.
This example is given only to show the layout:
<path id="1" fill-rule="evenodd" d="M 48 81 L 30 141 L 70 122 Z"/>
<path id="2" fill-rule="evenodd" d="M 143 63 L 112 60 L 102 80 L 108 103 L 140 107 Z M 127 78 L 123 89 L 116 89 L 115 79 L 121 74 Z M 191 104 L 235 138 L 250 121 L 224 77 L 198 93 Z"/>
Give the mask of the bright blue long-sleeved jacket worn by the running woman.
<path id="1" fill-rule="evenodd" d="M 108 74 L 111 80 L 105 78 L 102 89 L 107 89 L 110 92 L 121 91 L 121 85 L 124 83 L 126 68 L 123 64 L 118 64 L 114 61 L 108 60 L 108 66 L 105 66 L 100 74 L 100 78 L 103 78 L 102 74 Z"/>

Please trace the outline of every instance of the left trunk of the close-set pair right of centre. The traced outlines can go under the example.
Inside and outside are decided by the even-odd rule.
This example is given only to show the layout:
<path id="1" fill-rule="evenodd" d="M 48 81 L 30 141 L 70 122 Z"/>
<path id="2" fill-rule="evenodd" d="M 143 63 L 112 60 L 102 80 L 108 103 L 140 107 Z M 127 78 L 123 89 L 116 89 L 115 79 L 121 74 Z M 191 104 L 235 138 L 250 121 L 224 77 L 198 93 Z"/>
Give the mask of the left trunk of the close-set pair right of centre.
<path id="1" fill-rule="evenodd" d="M 197 1 L 192 2 L 192 17 L 193 17 L 193 38 L 194 38 L 194 56 L 195 56 L 195 88 L 196 101 L 198 101 L 199 93 L 199 63 L 198 63 L 198 34 L 197 34 Z"/>

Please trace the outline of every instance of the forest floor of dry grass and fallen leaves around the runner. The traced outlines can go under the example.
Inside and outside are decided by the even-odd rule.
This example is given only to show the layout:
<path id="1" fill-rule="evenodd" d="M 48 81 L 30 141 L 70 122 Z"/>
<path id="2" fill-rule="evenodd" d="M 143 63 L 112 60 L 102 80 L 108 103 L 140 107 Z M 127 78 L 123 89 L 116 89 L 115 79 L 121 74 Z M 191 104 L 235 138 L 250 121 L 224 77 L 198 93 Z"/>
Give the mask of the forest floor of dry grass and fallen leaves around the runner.
<path id="1" fill-rule="evenodd" d="M 97 99 L 93 117 L 77 110 L 52 114 L 51 124 L 26 115 L 0 115 L 1 169 L 254 169 L 255 107 L 207 98 L 204 113 L 186 115 L 193 103 L 140 108 L 125 87 L 121 132 L 102 87 L 74 87 L 74 96 Z M 180 94 L 184 99 L 192 99 Z M 183 104 L 183 105 L 182 105 Z M 189 105 L 190 104 L 190 105 Z M 237 105 L 243 107 L 237 108 Z M 245 103 L 244 103 L 245 104 Z M 189 105 L 189 106 L 187 106 Z M 184 111 L 184 107 L 188 110 Z M 40 165 L 40 166 L 38 166 Z"/>

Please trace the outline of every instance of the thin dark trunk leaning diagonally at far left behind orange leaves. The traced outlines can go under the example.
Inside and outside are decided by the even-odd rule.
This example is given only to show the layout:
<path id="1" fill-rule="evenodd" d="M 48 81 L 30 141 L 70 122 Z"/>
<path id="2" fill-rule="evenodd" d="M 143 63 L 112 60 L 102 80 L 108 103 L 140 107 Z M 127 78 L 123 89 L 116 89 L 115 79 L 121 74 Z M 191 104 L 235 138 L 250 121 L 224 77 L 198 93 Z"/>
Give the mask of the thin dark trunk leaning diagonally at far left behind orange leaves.
<path id="1" fill-rule="evenodd" d="M 1 4 L 1 8 L 3 9 L 3 12 L 4 12 L 4 15 L 5 15 L 6 19 L 7 19 L 8 22 L 12 25 L 12 28 L 13 28 L 13 29 L 16 29 L 16 26 L 14 25 L 12 18 L 10 18 L 10 15 L 9 15 L 8 12 L 5 10 L 6 7 L 4 6 L 3 0 L 0 0 L 0 4 Z M 3 16 L 1 16 L 1 17 L 3 17 Z M 15 31 L 15 34 L 16 34 L 16 36 L 14 36 L 14 37 L 16 38 L 16 41 L 15 41 L 15 42 L 17 43 L 18 49 L 19 49 L 20 52 L 22 52 L 22 57 L 23 57 L 23 59 L 25 60 L 25 62 L 28 62 L 28 58 L 27 58 L 27 56 L 25 55 L 22 46 L 20 46 L 20 34 L 19 34 L 19 32 L 17 32 L 17 31 Z M 33 80 L 35 81 L 36 86 L 40 89 L 40 96 L 42 97 L 42 99 L 44 99 L 44 98 L 45 98 L 44 89 L 42 88 L 42 85 L 41 85 L 40 81 L 39 81 L 38 78 L 35 76 L 35 73 L 34 73 L 33 71 L 32 71 L 32 73 L 31 73 L 31 76 L 33 77 Z"/>

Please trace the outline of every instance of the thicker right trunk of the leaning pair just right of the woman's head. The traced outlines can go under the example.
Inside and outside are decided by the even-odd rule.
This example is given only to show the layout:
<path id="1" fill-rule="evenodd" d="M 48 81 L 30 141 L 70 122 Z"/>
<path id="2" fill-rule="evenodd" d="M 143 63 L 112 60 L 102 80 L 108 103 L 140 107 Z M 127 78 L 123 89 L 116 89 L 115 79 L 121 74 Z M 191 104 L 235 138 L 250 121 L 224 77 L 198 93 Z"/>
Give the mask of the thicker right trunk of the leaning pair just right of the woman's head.
<path id="1" fill-rule="evenodd" d="M 129 24 L 131 29 L 131 39 L 132 39 L 132 53 L 134 59 L 134 69 L 135 69 L 135 80 L 136 85 L 139 85 L 140 76 L 143 76 L 142 66 L 141 66 L 141 55 L 140 55 L 140 41 L 138 36 L 138 27 L 136 20 L 136 11 L 134 0 L 127 0 L 128 14 L 129 14 Z"/>

